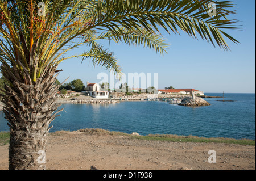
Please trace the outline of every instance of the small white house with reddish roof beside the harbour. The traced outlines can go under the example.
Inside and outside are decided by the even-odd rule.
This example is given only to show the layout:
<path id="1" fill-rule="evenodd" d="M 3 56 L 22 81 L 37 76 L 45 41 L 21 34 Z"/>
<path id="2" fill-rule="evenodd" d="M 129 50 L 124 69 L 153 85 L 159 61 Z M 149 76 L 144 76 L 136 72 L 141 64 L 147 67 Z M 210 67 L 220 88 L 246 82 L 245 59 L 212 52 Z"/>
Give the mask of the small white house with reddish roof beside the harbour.
<path id="1" fill-rule="evenodd" d="M 87 85 L 86 91 L 90 96 L 96 99 L 108 99 L 108 91 L 100 91 L 100 85 L 98 83 L 89 83 Z"/>

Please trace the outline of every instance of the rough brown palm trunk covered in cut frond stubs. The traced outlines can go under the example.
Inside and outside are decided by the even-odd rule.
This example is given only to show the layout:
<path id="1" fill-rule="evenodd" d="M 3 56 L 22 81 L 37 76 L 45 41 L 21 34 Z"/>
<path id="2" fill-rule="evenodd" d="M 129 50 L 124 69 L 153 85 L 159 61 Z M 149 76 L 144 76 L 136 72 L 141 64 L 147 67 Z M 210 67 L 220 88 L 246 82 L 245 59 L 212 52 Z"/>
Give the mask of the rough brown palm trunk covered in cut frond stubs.
<path id="1" fill-rule="evenodd" d="M 3 69 L 3 67 L 2 67 Z M 55 68 L 47 68 L 36 82 L 23 74 L 14 78 L 14 68 L 3 71 L 11 85 L 5 85 L 3 112 L 10 127 L 9 169 L 46 169 L 49 124 L 57 110 Z M 22 79 L 22 80 L 21 80 Z M 26 83 L 25 83 L 26 82 Z M 59 115 L 58 115 L 59 116 Z"/>

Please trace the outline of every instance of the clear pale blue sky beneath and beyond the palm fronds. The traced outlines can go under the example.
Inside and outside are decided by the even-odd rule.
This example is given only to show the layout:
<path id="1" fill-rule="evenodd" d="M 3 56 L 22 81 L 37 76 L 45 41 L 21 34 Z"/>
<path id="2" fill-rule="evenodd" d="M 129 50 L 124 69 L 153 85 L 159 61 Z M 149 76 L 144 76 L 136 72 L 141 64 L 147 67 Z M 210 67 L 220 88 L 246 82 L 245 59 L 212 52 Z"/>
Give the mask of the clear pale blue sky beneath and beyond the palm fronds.
<path id="1" fill-rule="evenodd" d="M 241 30 L 229 31 L 240 41 L 227 41 L 231 50 L 224 51 L 204 40 L 195 40 L 187 34 L 175 35 L 162 31 L 170 43 L 167 54 L 160 57 L 153 49 L 133 47 L 126 44 L 104 42 L 105 48 L 113 51 L 119 60 L 123 73 L 158 73 L 158 87 L 193 88 L 204 92 L 255 93 L 255 1 L 236 0 L 237 14 L 230 16 L 240 20 Z M 81 51 L 83 48 L 79 49 Z M 72 54 L 77 54 L 77 50 Z M 99 73 L 109 71 L 93 68 L 89 60 L 81 59 L 62 62 L 63 69 L 58 77 L 62 82 L 81 79 L 84 84 L 98 83 Z"/>

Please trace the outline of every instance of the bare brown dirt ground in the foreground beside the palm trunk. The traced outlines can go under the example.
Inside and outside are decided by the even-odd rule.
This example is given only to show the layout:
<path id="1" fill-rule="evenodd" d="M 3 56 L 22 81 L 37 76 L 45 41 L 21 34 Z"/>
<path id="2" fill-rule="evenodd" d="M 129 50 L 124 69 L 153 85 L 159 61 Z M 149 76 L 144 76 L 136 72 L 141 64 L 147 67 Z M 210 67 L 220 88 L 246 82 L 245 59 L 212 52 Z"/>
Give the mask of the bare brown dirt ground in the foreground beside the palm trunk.
<path id="1" fill-rule="evenodd" d="M 0 146 L 0 169 L 8 169 L 8 147 Z M 209 164 L 209 150 L 216 163 Z M 47 169 L 177 170 L 255 169 L 255 146 L 134 140 L 82 132 L 48 137 Z"/>

